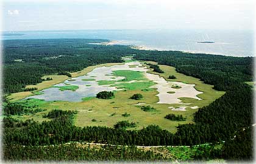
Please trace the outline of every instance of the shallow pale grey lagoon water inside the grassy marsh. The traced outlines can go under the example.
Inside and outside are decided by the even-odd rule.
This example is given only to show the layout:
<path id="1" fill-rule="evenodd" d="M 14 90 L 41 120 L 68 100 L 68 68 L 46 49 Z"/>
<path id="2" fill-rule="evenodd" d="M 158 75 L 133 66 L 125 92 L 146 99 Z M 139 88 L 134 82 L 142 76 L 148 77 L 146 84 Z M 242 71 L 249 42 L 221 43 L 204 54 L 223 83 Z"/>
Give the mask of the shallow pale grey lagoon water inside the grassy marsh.
<path id="1" fill-rule="evenodd" d="M 130 67 L 130 66 L 133 67 Z M 154 75 L 151 73 L 147 73 L 146 71 L 149 70 L 146 67 L 143 67 L 142 64 L 138 61 L 133 61 L 129 63 L 124 63 L 123 65 L 115 65 L 111 67 L 97 67 L 93 69 L 91 72 L 87 73 L 86 75 L 82 75 L 80 77 L 72 78 L 72 81 L 66 80 L 64 83 L 55 84 L 54 87 L 44 89 L 43 94 L 41 95 L 34 95 L 27 98 L 38 98 L 43 99 L 45 101 L 82 101 L 82 98 L 85 97 L 96 97 L 96 94 L 101 91 L 118 91 L 117 87 L 112 86 L 113 84 L 108 85 L 99 85 L 98 81 L 107 80 L 113 81 L 115 80 L 115 84 L 118 83 L 133 83 L 136 82 L 135 80 L 132 81 L 118 81 L 123 80 L 125 77 L 117 77 L 113 75 L 113 71 L 115 70 L 133 70 L 133 71 L 140 71 L 143 72 L 144 77 L 148 78 L 144 81 L 154 81 L 154 85 L 151 86 L 152 88 L 157 89 L 159 94 L 157 94 L 159 101 L 158 103 L 166 103 L 166 104 L 173 104 L 173 103 L 181 103 L 179 97 L 190 97 L 196 98 L 197 100 L 201 100 L 196 95 L 202 94 L 202 92 L 196 91 L 194 89 L 194 84 L 185 84 L 180 82 L 174 81 L 166 81 L 164 78 Z M 86 81 L 90 80 L 90 81 Z M 92 81 L 93 79 L 93 81 Z M 70 79 L 69 79 L 70 80 Z M 141 81 L 141 80 L 140 80 Z M 177 84 L 181 86 L 180 89 L 173 89 L 171 86 Z M 79 88 L 76 91 L 60 91 L 56 86 L 78 86 Z M 174 91 L 174 94 L 168 94 L 167 92 Z M 26 99 L 27 99 L 26 98 Z"/>

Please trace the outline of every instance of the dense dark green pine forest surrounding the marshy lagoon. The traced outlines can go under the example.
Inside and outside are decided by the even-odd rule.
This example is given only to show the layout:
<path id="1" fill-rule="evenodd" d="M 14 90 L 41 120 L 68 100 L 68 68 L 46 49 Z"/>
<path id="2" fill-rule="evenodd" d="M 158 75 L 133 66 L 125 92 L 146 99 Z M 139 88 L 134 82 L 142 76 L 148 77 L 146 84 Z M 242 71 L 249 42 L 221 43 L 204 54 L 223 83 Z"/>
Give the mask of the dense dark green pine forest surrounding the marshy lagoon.
<path id="1" fill-rule="evenodd" d="M 22 114 L 26 111 L 25 107 L 9 102 L 4 106 L 5 117 L 2 120 L 5 160 L 96 160 L 93 159 L 94 155 L 102 157 L 97 160 L 166 160 L 160 154 L 140 151 L 134 145 L 194 146 L 204 143 L 221 143 L 223 146 L 217 152 L 205 149 L 204 154 L 196 155 L 197 159 L 208 157 L 252 160 L 253 90 L 244 82 L 252 81 L 254 58 L 88 44 L 102 41 L 105 40 L 4 41 L 4 93 L 23 91 L 27 84 L 43 81 L 43 75 L 74 72 L 100 63 L 122 62 L 121 56 L 134 55 L 137 60 L 174 66 L 177 72 L 200 78 L 204 83 L 213 84 L 216 90 L 226 91 L 226 94 L 199 109 L 194 114 L 195 124 L 179 125 L 175 134 L 155 125 L 141 130 L 102 126 L 76 127 L 73 118 L 77 113 L 70 111 L 51 111 L 45 115 L 51 118 L 51 121 L 42 123 L 34 120 L 20 121 L 9 116 Z M 63 145 L 68 142 L 94 142 L 129 147 L 106 146 L 93 149 Z M 60 155 L 46 155 L 54 153 Z"/>

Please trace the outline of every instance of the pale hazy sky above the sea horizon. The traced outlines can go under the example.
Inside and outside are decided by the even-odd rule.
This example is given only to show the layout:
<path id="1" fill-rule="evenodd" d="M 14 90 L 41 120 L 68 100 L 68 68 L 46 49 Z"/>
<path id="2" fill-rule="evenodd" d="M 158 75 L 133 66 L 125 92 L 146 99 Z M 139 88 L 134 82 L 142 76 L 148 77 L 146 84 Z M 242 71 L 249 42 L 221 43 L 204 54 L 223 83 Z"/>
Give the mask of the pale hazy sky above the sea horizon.
<path id="1" fill-rule="evenodd" d="M 4 0 L 2 31 L 86 29 L 253 30 L 251 0 Z"/>

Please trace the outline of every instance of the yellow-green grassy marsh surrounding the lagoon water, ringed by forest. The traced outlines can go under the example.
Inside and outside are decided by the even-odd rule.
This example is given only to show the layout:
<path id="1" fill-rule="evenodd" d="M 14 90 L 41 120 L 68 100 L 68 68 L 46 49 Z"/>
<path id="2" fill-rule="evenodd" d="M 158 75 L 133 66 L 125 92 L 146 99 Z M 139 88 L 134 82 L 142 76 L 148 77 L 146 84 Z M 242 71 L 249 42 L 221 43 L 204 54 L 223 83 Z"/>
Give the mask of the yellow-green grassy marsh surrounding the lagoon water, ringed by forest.
<path id="1" fill-rule="evenodd" d="M 148 62 L 149 63 L 149 62 Z M 154 62 L 151 62 L 154 63 Z M 122 63 L 119 63 L 122 64 Z M 154 63 L 155 64 L 155 63 Z M 76 77 L 79 75 L 84 75 L 91 70 L 93 70 L 96 67 L 102 67 L 102 66 L 113 66 L 116 65 L 115 63 L 109 63 L 109 64 L 100 64 L 98 66 L 92 66 L 88 67 L 87 69 L 84 69 L 81 71 L 81 73 L 73 73 L 72 76 Z M 116 86 L 119 89 L 124 89 L 122 91 L 115 91 L 115 98 L 112 98 L 110 100 L 102 100 L 94 97 L 85 97 L 83 98 L 81 102 L 69 102 L 69 101 L 40 101 L 40 100 L 26 100 L 29 101 L 31 104 L 38 104 L 38 106 L 42 109 L 46 109 L 46 111 L 38 112 L 37 114 L 33 115 L 23 115 L 23 116 L 14 116 L 15 118 L 26 120 L 33 118 L 37 121 L 43 121 L 43 120 L 49 120 L 47 118 L 43 118 L 44 114 L 47 114 L 52 109 L 62 109 L 62 110 L 72 110 L 72 111 L 78 111 L 76 114 L 76 117 L 74 119 L 74 124 L 76 126 L 110 126 L 113 127 L 116 122 L 128 120 L 130 122 L 137 123 L 137 126 L 135 128 L 128 128 L 128 129 L 141 129 L 143 127 L 146 127 L 148 125 L 158 125 L 162 129 L 166 129 L 171 132 L 176 132 L 176 126 L 179 124 L 184 123 L 193 123 L 193 114 L 198 109 L 195 108 L 198 106 L 201 108 L 202 106 L 208 105 L 213 100 L 215 100 L 218 97 L 221 97 L 224 92 L 215 91 L 212 89 L 213 86 L 204 84 L 202 81 L 198 80 L 197 78 L 188 77 L 186 75 L 183 75 L 182 73 L 177 73 L 174 67 L 170 66 L 160 66 L 160 68 L 165 73 L 156 73 L 152 72 L 152 70 L 149 70 L 149 73 L 154 73 L 157 75 L 160 75 L 161 77 L 165 78 L 167 81 L 180 81 L 183 83 L 188 84 L 196 84 L 195 88 L 198 91 L 204 92 L 203 94 L 198 95 L 198 97 L 202 98 L 202 100 L 197 100 L 195 98 L 180 98 L 182 100 L 182 103 L 191 103 L 186 104 L 188 106 L 186 110 L 172 110 L 169 108 L 170 106 L 173 109 L 179 109 L 181 108 L 182 104 L 160 104 L 157 103 L 159 101 L 158 97 L 156 96 L 158 94 L 156 89 L 149 88 L 150 86 L 154 85 L 154 82 L 152 81 L 141 81 L 145 80 L 146 78 L 143 76 L 142 72 L 136 72 L 131 70 L 115 70 L 113 71 L 113 74 L 117 77 L 125 77 L 124 80 L 118 80 L 119 82 L 127 82 L 127 83 L 118 83 L 118 84 L 112 84 L 113 81 L 99 81 L 99 84 L 105 85 L 105 84 L 112 84 L 112 86 Z M 170 80 L 168 79 L 169 75 L 175 75 L 177 79 Z M 57 75 L 55 75 L 57 76 Z M 50 76 L 48 76 L 50 77 Z M 61 79 L 59 78 L 58 82 L 63 82 L 67 79 L 66 76 L 63 76 L 65 78 Z M 55 77 L 56 79 L 57 77 Z M 54 79 L 54 78 L 53 78 Z M 138 80 L 133 82 L 132 80 Z M 51 82 L 53 82 L 52 80 Z M 130 81 L 130 83 L 129 83 Z M 49 82 L 49 81 L 45 81 Z M 55 80 L 55 83 L 57 80 Z M 41 83 L 40 83 L 41 84 Z M 40 85 L 38 84 L 38 85 Z M 54 83 L 52 83 L 53 85 Z M 45 87 L 49 87 L 48 85 L 45 85 Z M 65 88 L 74 89 L 73 86 L 63 86 Z M 42 89 L 42 86 L 41 86 Z M 175 94 L 173 92 L 170 92 L 170 94 Z M 16 93 L 20 94 L 20 93 Z M 143 99 L 141 100 L 132 100 L 130 97 L 133 94 L 142 94 Z M 25 94 L 23 95 L 23 98 L 26 97 Z M 12 95 L 13 96 L 13 95 Z M 16 97 L 15 100 L 19 99 L 19 97 Z M 23 100 L 25 101 L 25 100 Z M 143 106 L 150 105 L 153 108 L 155 108 L 154 111 L 143 111 L 141 110 L 141 106 L 143 103 Z M 127 113 L 130 114 L 129 117 L 124 117 L 123 114 Z M 187 117 L 186 121 L 170 121 L 165 117 L 167 114 L 176 114 L 176 115 L 183 115 L 183 117 Z M 92 121 L 94 120 L 94 121 Z M 95 121 L 96 120 L 96 121 Z"/>

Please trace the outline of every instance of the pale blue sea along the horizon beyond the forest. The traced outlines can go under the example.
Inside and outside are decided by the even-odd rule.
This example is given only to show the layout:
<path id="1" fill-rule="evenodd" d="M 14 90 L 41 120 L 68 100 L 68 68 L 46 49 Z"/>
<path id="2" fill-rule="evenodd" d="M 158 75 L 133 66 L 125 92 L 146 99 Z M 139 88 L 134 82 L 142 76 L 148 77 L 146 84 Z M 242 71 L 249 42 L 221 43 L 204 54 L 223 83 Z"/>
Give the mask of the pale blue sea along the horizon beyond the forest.
<path id="1" fill-rule="evenodd" d="M 2 32 L 1 36 L 2 40 L 50 38 L 110 39 L 141 49 L 255 56 L 251 30 L 55 30 Z"/>

